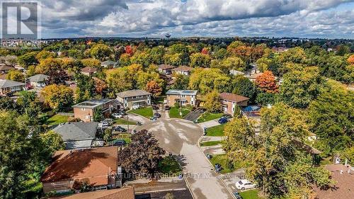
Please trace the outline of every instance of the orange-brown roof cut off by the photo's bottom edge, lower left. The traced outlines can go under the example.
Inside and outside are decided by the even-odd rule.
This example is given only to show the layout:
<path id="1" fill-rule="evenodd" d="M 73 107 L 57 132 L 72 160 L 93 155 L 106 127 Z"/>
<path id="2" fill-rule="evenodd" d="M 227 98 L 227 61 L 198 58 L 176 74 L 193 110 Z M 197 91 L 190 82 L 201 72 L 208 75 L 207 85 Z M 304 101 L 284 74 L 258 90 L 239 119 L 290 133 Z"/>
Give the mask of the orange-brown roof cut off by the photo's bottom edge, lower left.
<path id="1" fill-rule="evenodd" d="M 123 188 L 115 188 L 101 191 L 91 191 L 84 193 L 76 193 L 62 199 L 135 199 L 135 191 L 133 186 Z"/>

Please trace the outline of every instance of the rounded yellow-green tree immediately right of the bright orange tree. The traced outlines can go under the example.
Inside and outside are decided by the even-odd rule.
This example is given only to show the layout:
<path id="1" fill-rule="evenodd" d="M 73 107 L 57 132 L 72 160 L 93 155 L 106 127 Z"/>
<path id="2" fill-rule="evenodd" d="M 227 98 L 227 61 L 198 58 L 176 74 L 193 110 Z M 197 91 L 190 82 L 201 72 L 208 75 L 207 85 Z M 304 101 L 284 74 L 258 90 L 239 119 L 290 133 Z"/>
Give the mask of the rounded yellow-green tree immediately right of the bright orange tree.
<path id="1" fill-rule="evenodd" d="M 294 108 L 307 108 L 319 94 L 323 79 L 317 67 L 293 70 L 283 76 L 279 100 Z"/>

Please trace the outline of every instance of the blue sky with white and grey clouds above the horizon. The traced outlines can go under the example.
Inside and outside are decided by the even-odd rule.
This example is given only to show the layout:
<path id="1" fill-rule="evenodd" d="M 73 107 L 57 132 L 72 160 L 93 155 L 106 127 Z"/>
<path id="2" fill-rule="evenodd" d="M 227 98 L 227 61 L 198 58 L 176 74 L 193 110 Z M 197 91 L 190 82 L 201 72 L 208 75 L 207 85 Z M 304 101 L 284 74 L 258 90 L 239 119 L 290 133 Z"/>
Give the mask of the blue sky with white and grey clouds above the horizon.
<path id="1" fill-rule="evenodd" d="M 354 0 L 43 0 L 42 38 L 354 39 Z"/>

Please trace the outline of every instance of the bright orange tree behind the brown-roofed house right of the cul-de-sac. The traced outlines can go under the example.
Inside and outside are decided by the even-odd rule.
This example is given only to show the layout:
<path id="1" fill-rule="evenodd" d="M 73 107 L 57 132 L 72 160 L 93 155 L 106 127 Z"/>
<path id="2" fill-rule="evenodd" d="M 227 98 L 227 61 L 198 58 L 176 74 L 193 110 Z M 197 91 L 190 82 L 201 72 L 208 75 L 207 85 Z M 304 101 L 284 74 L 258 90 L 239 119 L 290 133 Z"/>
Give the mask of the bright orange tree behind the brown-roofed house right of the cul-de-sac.
<path id="1" fill-rule="evenodd" d="M 265 71 L 261 76 L 258 76 L 256 78 L 256 85 L 258 89 L 266 93 L 278 93 L 279 91 L 275 76 L 270 71 Z"/>

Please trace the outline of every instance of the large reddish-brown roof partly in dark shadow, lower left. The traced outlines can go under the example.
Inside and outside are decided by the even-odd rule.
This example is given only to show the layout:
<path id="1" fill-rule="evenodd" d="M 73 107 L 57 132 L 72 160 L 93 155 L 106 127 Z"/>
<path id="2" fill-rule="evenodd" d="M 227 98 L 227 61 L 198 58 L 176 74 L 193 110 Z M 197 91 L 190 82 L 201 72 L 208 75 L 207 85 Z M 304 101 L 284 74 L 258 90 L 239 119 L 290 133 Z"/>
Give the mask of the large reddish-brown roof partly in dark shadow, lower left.
<path id="1" fill-rule="evenodd" d="M 42 175 L 42 182 L 66 179 L 88 181 L 92 186 L 108 184 L 108 174 L 118 166 L 118 147 L 100 147 L 56 152 Z"/>

